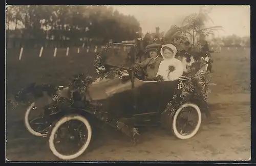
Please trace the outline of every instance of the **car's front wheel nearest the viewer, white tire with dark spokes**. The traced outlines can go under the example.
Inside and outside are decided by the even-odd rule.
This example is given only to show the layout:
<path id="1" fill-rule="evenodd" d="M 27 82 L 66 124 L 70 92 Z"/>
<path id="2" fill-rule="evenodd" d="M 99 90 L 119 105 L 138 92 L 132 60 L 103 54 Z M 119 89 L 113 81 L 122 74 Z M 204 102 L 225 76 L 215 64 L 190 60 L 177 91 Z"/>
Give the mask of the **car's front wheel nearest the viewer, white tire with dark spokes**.
<path id="1" fill-rule="evenodd" d="M 66 115 L 52 127 L 49 147 L 62 160 L 77 158 L 87 150 L 92 137 L 92 128 L 86 117 Z"/>

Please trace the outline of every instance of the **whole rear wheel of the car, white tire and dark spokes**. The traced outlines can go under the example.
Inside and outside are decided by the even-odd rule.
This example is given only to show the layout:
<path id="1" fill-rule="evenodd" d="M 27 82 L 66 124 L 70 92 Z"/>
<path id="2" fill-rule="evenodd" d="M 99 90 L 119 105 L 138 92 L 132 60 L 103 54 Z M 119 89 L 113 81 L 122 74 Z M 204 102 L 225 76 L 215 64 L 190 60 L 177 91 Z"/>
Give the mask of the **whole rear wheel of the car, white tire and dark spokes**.
<path id="1" fill-rule="evenodd" d="M 197 134 L 201 120 L 200 108 L 196 104 L 185 103 L 173 116 L 173 134 L 179 139 L 189 139 Z"/>

